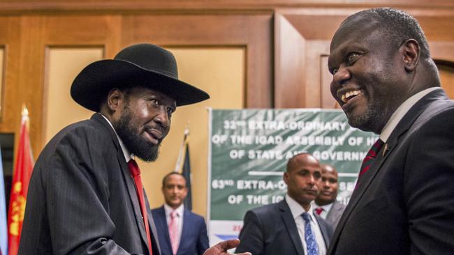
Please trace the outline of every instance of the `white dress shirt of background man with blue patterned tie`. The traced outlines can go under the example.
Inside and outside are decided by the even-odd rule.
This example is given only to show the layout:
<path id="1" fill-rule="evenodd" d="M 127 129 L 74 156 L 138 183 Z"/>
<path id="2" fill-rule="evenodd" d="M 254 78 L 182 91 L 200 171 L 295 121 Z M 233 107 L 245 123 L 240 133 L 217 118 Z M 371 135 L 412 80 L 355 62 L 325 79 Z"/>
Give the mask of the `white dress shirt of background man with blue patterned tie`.
<path id="1" fill-rule="evenodd" d="M 305 220 L 302 219 L 302 213 L 306 212 L 305 208 L 302 208 L 300 204 L 292 199 L 288 194 L 286 194 L 286 202 L 290 211 L 293 215 L 293 219 L 295 219 L 296 228 L 298 229 L 298 234 L 300 235 L 300 240 L 302 242 L 302 248 L 307 255 L 307 245 L 305 239 Z M 314 214 L 312 213 L 312 208 L 309 208 L 307 211 L 309 212 L 309 218 L 311 219 L 311 229 L 312 234 L 314 235 L 315 241 L 317 242 L 318 246 L 318 255 L 325 255 L 326 254 L 326 245 L 325 240 L 323 240 L 323 235 L 321 234 L 320 226 L 318 226 L 317 220 L 314 218 Z"/>

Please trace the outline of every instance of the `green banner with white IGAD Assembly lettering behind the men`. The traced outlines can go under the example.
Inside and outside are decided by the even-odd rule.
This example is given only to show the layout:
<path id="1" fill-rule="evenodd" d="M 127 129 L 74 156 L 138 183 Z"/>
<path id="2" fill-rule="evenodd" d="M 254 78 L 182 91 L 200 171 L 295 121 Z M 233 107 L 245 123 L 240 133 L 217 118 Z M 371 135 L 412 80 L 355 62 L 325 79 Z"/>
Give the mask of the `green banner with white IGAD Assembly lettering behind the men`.
<path id="1" fill-rule="evenodd" d="M 376 135 L 350 127 L 338 110 L 210 111 L 210 240 L 233 238 L 244 213 L 284 199 L 286 162 L 311 153 L 339 172 L 337 200 L 346 204 Z"/>

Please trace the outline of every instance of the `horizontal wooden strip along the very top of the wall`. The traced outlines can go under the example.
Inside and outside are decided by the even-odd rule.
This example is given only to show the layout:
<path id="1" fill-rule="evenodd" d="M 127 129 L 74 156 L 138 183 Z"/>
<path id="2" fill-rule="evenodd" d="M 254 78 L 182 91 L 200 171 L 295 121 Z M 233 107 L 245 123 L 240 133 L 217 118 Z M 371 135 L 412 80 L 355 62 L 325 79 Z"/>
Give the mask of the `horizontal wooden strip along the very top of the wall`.
<path id="1" fill-rule="evenodd" d="M 404 8 L 452 8 L 451 0 L 1 0 L 0 11 L 118 11 L 118 10 L 263 10 L 281 7 L 396 6 Z"/>

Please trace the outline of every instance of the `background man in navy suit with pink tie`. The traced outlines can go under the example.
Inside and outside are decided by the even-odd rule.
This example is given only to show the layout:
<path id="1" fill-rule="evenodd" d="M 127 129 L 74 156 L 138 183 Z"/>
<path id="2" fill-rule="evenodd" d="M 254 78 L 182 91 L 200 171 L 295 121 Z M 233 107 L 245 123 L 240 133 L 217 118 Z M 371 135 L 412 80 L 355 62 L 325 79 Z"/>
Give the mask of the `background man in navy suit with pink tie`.
<path id="1" fill-rule="evenodd" d="M 161 255 L 202 255 L 209 246 L 207 226 L 203 217 L 184 208 L 186 179 L 181 173 L 168 173 L 161 190 L 166 203 L 152 210 Z"/>

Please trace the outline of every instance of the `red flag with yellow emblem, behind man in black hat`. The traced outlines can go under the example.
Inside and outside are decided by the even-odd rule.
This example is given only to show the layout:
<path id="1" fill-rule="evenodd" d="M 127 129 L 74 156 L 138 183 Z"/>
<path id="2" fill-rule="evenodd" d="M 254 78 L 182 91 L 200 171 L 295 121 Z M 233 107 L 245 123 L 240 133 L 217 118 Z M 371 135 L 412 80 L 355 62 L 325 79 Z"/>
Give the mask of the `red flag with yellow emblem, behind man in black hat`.
<path id="1" fill-rule="evenodd" d="M 29 137 L 29 111 L 22 109 L 20 140 L 17 148 L 13 183 L 11 184 L 10 205 L 8 210 L 8 254 L 16 255 L 19 249 L 20 232 L 24 221 L 25 202 L 34 160 L 31 155 Z"/>

